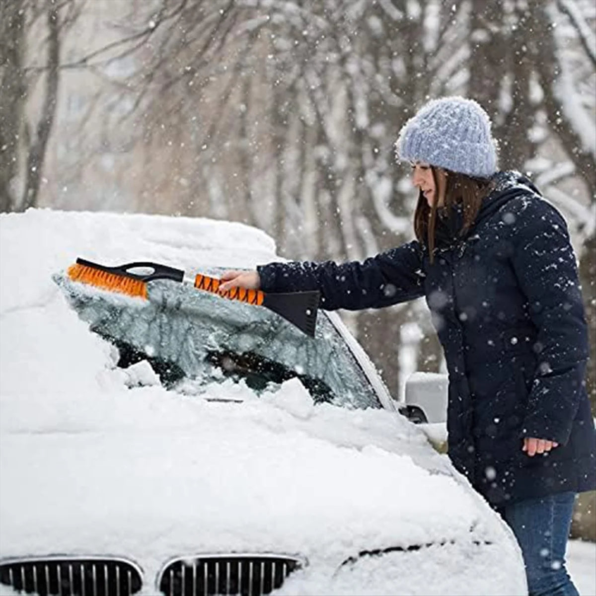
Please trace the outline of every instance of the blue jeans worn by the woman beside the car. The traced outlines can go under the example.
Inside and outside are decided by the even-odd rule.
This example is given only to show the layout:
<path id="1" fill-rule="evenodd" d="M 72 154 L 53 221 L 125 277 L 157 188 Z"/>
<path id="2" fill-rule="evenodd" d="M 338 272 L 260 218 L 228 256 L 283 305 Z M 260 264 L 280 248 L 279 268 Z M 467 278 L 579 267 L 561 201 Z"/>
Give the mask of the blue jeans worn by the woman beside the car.
<path id="1" fill-rule="evenodd" d="M 574 499 L 562 492 L 499 509 L 522 549 L 530 596 L 579 596 L 565 569 Z"/>

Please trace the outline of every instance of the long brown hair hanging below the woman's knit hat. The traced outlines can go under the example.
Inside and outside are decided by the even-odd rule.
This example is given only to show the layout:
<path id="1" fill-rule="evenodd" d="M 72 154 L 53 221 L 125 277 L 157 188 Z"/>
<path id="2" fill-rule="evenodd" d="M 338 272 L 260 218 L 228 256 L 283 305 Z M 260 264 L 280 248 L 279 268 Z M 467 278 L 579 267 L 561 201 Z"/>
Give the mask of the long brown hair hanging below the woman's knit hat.
<path id="1" fill-rule="evenodd" d="M 429 250 L 430 262 L 432 263 L 437 211 L 443 209 L 446 213 L 449 213 L 452 207 L 461 205 L 464 215 L 464 224 L 460 230 L 461 237 L 471 228 L 474 221 L 476 221 L 482 199 L 491 190 L 491 181 L 488 178 L 473 178 L 459 172 L 443 170 L 447 175 L 445 203 L 442 207 L 437 207 L 436 199 L 439 194 L 437 173 L 435 167 L 431 166 L 430 169 L 433 173 L 435 200 L 431 209 L 422 191 L 418 194 L 418 204 L 414 212 L 414 232 L 418 242 L 426 246 Z"/>

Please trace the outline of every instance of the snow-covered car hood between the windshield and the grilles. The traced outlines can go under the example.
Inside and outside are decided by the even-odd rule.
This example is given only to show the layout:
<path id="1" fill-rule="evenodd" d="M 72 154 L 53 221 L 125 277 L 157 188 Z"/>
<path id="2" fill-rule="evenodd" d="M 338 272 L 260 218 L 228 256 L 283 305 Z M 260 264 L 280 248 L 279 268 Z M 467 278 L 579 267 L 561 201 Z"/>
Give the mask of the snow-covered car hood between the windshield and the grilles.
<path id="1" fill-rule="evenodd" d="M 3 396 L 1 554 L 157 565 L 274 551 L 339 564 L 361 550 L 470 541 L 471 529 L 494 539 L 476 496 L 395 414 L 315 406 L 296 380 L 262 399 L 231 381 L 219 390 L 211 399 L 245 401 L 161 387 L 45 396 L 46 406 Z"/>

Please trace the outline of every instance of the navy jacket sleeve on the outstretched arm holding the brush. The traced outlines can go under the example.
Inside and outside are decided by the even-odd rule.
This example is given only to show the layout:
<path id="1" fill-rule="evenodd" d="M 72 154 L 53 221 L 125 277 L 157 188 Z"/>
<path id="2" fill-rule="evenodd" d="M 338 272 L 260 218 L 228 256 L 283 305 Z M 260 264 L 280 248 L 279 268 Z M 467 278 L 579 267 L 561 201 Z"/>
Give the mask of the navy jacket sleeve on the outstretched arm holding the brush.
<path id="1" fill-rule="evenodd" d="M 424 295 L 420 244 L 412 241 L 364 262 L 269 263 L 257 267 L 265 292 L 319 290 L 321 308 L 381 308 Z"/>

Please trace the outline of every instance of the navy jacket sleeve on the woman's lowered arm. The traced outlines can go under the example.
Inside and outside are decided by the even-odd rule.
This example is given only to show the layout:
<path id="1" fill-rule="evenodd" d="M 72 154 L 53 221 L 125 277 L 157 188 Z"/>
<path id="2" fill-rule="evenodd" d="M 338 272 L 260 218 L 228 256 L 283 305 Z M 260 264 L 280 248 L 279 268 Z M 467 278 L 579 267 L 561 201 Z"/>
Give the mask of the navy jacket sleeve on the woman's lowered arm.
<path id="1" fill-rule="evenodd" d="M 564 219 L 542 199 L 526 198 L 513 266 L 538 330 L 537 368 L 522 436 L 567 443 L 582 399 L 588 329 L 575 254 Z"/>

